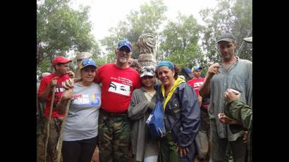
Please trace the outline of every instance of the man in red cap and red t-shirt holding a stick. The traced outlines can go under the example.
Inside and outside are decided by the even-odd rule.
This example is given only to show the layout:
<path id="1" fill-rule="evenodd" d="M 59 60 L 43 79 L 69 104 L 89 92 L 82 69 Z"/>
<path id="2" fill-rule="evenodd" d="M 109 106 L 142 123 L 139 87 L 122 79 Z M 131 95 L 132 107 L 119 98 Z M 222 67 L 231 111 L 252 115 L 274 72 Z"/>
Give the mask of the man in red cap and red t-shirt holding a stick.
<path id="1" fill-rule="evenodd" d="M 63 120 L 63 115 L 59 115 L 56 112 L 56 104 L 61 99 L 61 95 L 64 92 L 63 84 L 65 80 L 68 80 L 69 77 L 74 77 L 74 73 L 70 71 L 69 63 L 70 59 L 64 58 L 62 56 L 57 56 L 53 60 L 53 66 L 55 72 L 51 75 L 42 77 L 38 90 L 38 99 L 39 101 L 46 101 L 46 106 L 44 109 L 44 118 L 45 118 L 45 135 L 47 135 L 47 123 L 49 119 L 49 111 L 51 108 L 51 96 L 52 89 L 55 87 L 54 103 L 53 110 L 51 114 L 51 123 L 49 125 L 49 139 L 47 144 L 47 161 L 54 162 L 57 158 L 56 145 L 59 139 L 60 125 Z"/>

